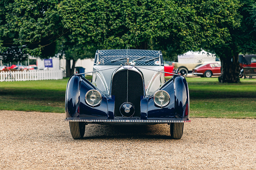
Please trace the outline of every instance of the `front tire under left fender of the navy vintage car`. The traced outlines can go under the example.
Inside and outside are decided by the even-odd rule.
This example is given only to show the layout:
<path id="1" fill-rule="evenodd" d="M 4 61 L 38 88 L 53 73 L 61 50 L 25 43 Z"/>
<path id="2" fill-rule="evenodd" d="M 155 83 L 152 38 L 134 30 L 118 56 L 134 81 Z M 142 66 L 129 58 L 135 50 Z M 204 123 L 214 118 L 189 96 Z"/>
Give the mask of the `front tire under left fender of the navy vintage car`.
<path id="1" fill-rule="evenodd" d="M 71 135 L 74 139 L 82 139 L 85 131 L 84 122 L 69 122 Z"/>

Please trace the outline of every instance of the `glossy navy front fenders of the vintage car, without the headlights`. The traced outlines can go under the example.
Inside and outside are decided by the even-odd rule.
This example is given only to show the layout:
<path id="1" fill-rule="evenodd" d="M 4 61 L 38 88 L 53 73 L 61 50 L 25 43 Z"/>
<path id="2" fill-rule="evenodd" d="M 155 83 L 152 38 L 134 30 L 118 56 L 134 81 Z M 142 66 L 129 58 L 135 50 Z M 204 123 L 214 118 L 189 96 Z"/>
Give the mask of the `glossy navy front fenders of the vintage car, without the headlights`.
<path id="1" fill-rule="evenodd" d="M 92 89 L 98 90 L 83 76 L 71 76 L 66 92 L 65 112 L 67 118 L 114 119 L 114 96 L 107 96 L 98 90 L 102 95 L 102 102 L 98 106 L 92 107 L 85 102 L 86 92 Z M 169 104 L 165 107 L 159 107 L 154 103 L 154 94 L 142 96 L 140 101 L 140 119 L 188 120 L 189 93 L 186 79 L 183 76 L 174 75 L 159 90 L 165 90 L 169 93 Z"/>

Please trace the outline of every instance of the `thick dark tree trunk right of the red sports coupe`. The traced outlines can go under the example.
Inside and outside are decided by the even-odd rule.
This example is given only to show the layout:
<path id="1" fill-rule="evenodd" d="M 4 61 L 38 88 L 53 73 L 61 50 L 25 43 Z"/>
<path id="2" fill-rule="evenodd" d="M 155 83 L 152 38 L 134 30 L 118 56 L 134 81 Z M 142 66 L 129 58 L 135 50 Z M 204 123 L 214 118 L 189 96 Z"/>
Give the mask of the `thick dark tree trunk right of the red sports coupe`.
<path id="1" fill-rule="evenodd" d="M 223 55 L 222 55 L 223 56 Z M 240 82 L 240 67 L 238 62 L 238 53 L 233 56 L 220 57 L 221 59 L 221 75 L 220 83 L 238 83 Z"/>

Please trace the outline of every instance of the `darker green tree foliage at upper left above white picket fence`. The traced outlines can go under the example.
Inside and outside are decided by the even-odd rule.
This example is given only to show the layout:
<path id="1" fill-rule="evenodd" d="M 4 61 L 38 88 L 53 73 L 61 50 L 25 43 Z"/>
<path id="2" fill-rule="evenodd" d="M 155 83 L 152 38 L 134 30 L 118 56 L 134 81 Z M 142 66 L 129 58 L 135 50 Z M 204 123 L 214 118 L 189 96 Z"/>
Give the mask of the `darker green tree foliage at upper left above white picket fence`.
<path id="1" fill-rule="evenodd" d="M 5 47 L 26 45 L 26 53 L 48 57 L 68 30 L 57 15 L 58 0 L 0 0 L 0 39 Z M 1 49 L 4 51 L 6 48 Z M 46 55 L 44 55 L 46 53 Z"/>

